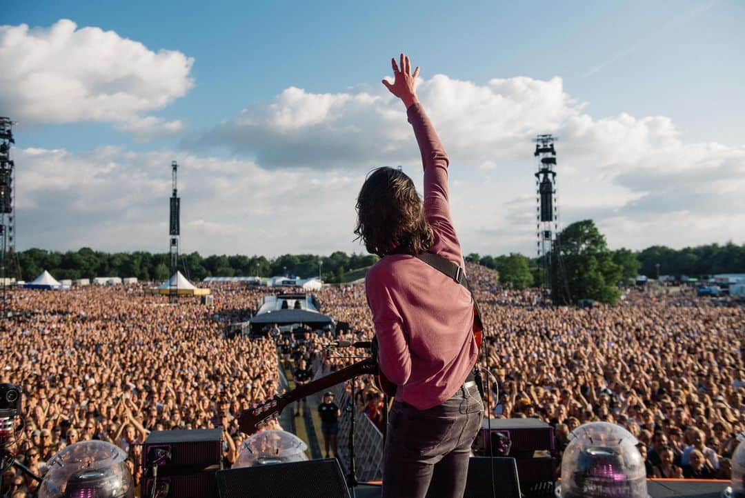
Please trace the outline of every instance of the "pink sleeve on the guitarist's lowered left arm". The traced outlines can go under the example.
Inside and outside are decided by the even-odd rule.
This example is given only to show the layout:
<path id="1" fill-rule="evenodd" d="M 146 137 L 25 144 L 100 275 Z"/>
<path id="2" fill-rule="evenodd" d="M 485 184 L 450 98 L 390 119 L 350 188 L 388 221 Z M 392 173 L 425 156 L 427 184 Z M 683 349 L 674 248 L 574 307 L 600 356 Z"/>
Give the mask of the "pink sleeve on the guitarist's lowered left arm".
<path id="1" fill-rule="evenodd" d="M 373 273 L 373 275 L 370 275 Z M 403 320 L 393 305 L 387 286 L 381 285 L 377 272 L 365 279 L 367 301 L 373 313 L 378 337 L 378 365 L 396 386 L 403 386 L 411 375 L 411 353 L 404 333 Z"/>

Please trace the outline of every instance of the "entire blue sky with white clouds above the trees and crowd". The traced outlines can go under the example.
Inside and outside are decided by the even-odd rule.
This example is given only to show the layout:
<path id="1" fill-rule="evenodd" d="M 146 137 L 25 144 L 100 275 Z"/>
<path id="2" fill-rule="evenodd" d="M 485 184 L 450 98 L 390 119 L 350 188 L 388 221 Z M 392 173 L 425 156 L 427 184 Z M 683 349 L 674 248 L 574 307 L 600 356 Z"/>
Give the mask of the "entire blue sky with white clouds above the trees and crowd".
<path id="1" fill-rule="evenodd" d="M 405 152 L 401 153 L 400 160 L 384 154 L 375 156 L 362 143 L 363 138 L 342 134 L 334 136 L 349 141 L 344 143 L 345 147 L 339 147 L 346 152 L 340 156 L 335 156 L 339 151 L 329 152 L 328 165 L 320 164 L 323 158 L 308 164 L 303 163 L 302 158 L 316 153 L 308 150 L 308 137 L 323 143 L 324 137 L 331 136 L 324 135 L 324 130 L 336 130 L 335 126 L 341 123 L 347 127 L 358 123 L 364 132 L 361 135 L 367 133 L 379 138 L 375 135 L 379 132 L 375 127 L 387 121 L 379 121 L 376 117 L 381 110 L 373 107 L 378 104 L 370 106 L 356 100 L 350 104 L 344 98 L 337 98 L 364 94 L 387 99 L 379 82 L 381 77 L 390 74 L 390 57 L 402 50 L 422 67 L 424 96 L 430 99 L 440 96 L 440 100 L 423 100 L 428 109 L 433 109 L 432 117 L 446 123 L 443 128 L 446 133 L 440 130 L 440 134 L 451 152 L 451 160 L 463 165 L 461 170 L 451 173 L 453 182 L 461 182 L 463 199 L 489 197 L 484 202 L 464 201 L 460 210 L 454 205 L 456 222 L 463 225 L 461 239 L 466 252 L 478 249 L 478 252 L 492 254 L 510 251 L 530 254 L 532 251 L 529 221 L 532 204 L 528 204 L 533 195 L 530 174 L 533 162 L 527 133 L 541 130 L 567 139 L 564 149 L 559 148 L 559 181 L 568 179 L 563 185 L 572 187 L 560 191 L 563 222 L 594 217 L 612 246 L 625 245 L 634 249 L 651 243 L 683 246 L 729 239 L 738 243 L 745 241 L 744 229 L 733 228 L 726 214 L 712 213 L 706 208 L 706 199 L 716 197 L 726 202 L 734 195 L 732 183 L 723 185 L 725 179 L 717 175 L 734 175 L 744 168 L 741 115 L 745 100 L 740 94 L 745 83 L 745 68 L 738 61 L 741 48 L 745 46 L 745 34 L 741 29 L 745 4 L 738 1 L 482 1 L 457 6 L 445 1 L 349 5 L 237 1 L 4 3 L 0 24 L 10 28 L 26 24 L 31 28 L 23 42 L 31 43 L 29 40 L 37 35 L 49 35 L 51 27 L 60 19 L 70 19 L 77 25 L 70 45 L 61 55 L 57 54 L 56 59 L 29 51 L 41 54 L 29 57 L 32 61 L 29 64 L 36 66 L 25 72 L 19 70 L 16 79 L 2 80 L 0 77 L 0 83 L 4 83 L 0 86 L 0 114 L 11 115 L 21 123 L 16 127 L 19 180 L 24 180 L 22 168 L 25 165 L 18 159 L 25 159 L 26 167 L 34 171 L 34 175 L 27 178 L 29 182 L 48 178 L 47 168 L 62 163 L 70 165 L 72 176 L 78 167 L 96 177 L 95 182 L 83 185 L 77 194 L 72 194 L 72 183 L 65 177 L 43 188 L 36 183 L 36 190 L 32 188 L 28 192 L 28 202 L 22 201 L 23 190 L 31 185 L 20 183 L 19 246 L 75 249 L 76 244 L 83 244 L 102 249 L 118 246 L 121 249 L 160 249 L 165 246 L 165 232 L 162 237 L 159 235 L 160 222 L 150 220 L 145 208 L 140 212 L 120 206 L 107 211 L 108 214 L 97 212 L 95 215 L 92 211 L 101 211 L 96 207 L 107 195 L 112 205 L 116 205 L 117 200 L 121 202 L 131 196 L 132 189 L 141 189 L 124 188 L 126 185 L 121 182 L 127 175 L 112 176 L 112 168 L 127 168 L 130 162 L 137 163 L 142 167 L 142 178 L 148 182 L 161 178 L 167 182 L 167 165 L 163 165 L 163 171 L 157 170 L 157 161 L 160 156 L 182 155 L 187 163 L 214 163 L 209 168 L 194 164 L 202 173 L 206 169 L 212 172 L 215 194 L 194 191 L 192 197 L 199 202 L 192 204 L 195 211 L 191 213 L 186 207 L 189 205 L 188 189 L 204 185 L 205 180 L 194 175 L 189 182 L 190 165 L 184 165 L 184 215 L 193 215 L 192 233 L 186 235 L 191 244 L 189 249 L 205 253 L 267 255 L 361 250 L 360 246 L 350 243 L 348 237 L 349 220 L 353 222 L 354 217 L 356 182 L 364 178 L 369 167 L 381 162 L 410 165 L 416 176 L 416 161 L 412 160 L 416 154 L 402 146 Z M 110 45 L 101 42 L 103 38 L 97 42 L 98 35 L 80 35 L 80 30 L 86 27 L 113 31 L 116 38 L 109 40 Z M 89 57 L 91 60 L 87 63 L 90 65 L 105 66 L 106 63 L 99 60 L 116 60 L 121 57 L 121 51 L 130 50 L 124 46 L 124 39 L 141 43 L 150 54 L 162 49 L 179 53 L 180 59 L 168 59 L 167 63 L 153 66 L 150 72 L 173 67 L 173 80 L 180 82 L 180 86 L 165 88 L 162 81 L 170 74 L 168 72 L 148 80 L 147 75 L 142 76 L 142 71 L 150 70 L 146 64 L 128 69 L 121 63 L 115 64 L 112 71 L 123 71 L 118 80 L 107 80 L 100 74 L 89 78 L 92 69 L 89 71 L 86 67 L 86 60 L 71 63 L 69 66 L 74 66 L 75 71 L 57 67 L 60 57 L 68 55 Z M 93 46 L 86 48 L 86 42 Z M 2 46 L 0 44 L 0 54 Z M 34 50 L 43 51 L 38 47 Z M 0 55 L 0 61 L 13 63 L 22 57 L 18 54 L 23 53 L 6 51 Z M 12 54 L 16 54 L 16 59 L 8 60 Z M 184 63 L 188 58 L 191 63 Z M 127 70 L 131 74 L 127 74 Z M 72 81 L 70 84 L 76 88 L 89 85 L 84 93 L 92 96 L 96 92 L 111 96 L 121 86 L 129 93 L 131 99 L 127 102 L 131 106 L 109 103 L 107 105 L 112 108 L 102 111 L 91 98 L 81 100 L 79 107 L 85 109 L 73 113 L 75 115 L 60 109 L 57 114 L 49 114 L 54 118 L 46 119 L 38 109 L 46 105 L 43 99 L 38 98 L 38 106 L 34 107 L 34 95 L 22 95 L 22 86 L 29 73 L 39 78 L 48 75 L 48 83 L 39 84 L 51 87 L 57 86 L 55 77 L 61 74 L 66 84 Z M 434 80 L 435 74 L 445 75 L 446 79 Z M 551 86 L 528 85 L 526 90 L 520 85 L 490 83 L 494 79 L 515 83 L 517 80 L 512 79 L 518 77 L 528 78 L 531 85 L 558 77 L 558 95 L 564 98 L 559 99 L 560 103 L 555 102 L 557 95 L 551 93 Z M 131 83 L 133 80 L 147 81 L 135 84 Z M 458 82 L 469 83 L 473 91 L 463 93 Z M 291 87 L 302 89 L 304 94 L 299 98 L 285 95 L 286 99 L 282 100 L 283 92 Z M 442 100 L 441 96 L 451 95 L 450 92 L 460 93 L 452 101 Z M 27 99 L 25 107 L 19 106 L 18 101 L 22 100 L 19 95 Z M 512 103 L 510 112 L 516 112 L 517 117 L 504 121 L 504 127 L 481 127 L 484 137 L 478 144 L 469 145 L 469 133 L 479 132 L 465 133 L 464 122 L 483 123 L 488 116 L 475 118 L 479 109 L 487 113 L 491 110 L 504 112 L 504 107 L 495 103 L 499 100 L 495 95 L 507 98 Z M 481 98 L 487 98 L 488 102 L 479 100 Z M 329 104 L 329 101 L 335 103 Z M 333 115 L 318 117 L 313 114 L 318 105 L 326 104 L 346 118 L 338 121 Z M 400 110 L 393 100 L 383 100 L 383 104 Z M 49 105 L 54 106 L 54 103 Z M 117 117 L 117 106 L 121 106 L 121 118 Z M 32 107 L 36 109 L 34 112 L 29 110 Z M 272 112 L 278 112 L 279 108 L 301 121 L 308 112 L 315 117 L 300 124 L 283 122 L 282 130 L 262 135 L 261 140 L 256 138 L 257 130 L 276 124 L 276 115 Z M 521 109 L 528 108 L 532 110 L 525 110 L 522 118 Z M 247 110 L 241 113 L 244 109 Z M 464 109 L 475 110 L 466 112 Z M 554 112 L 548 121 L 541 115 L 546 112 Z M 247 128 L 244 118 L 256 121 L 257 116 L 263 116 L 261 126 Z M 146 117 L 159 120 L 155 122 L 156 127 L 173 124 L 171 132 L 159 133 L 158 138 L 144 141 L 143 134 L 134 132 L 133 127 L 136 120 Z M 644 121 L 647 117 L 659 119 Z M 501 117 L 495 117 L 496 121 L 499 119 Z M 452 130 L 448 127 L 451 122 Z M 368 130 L 366 126 L 372 128 Z M 517 152 L 522 147 L 517 142 L 523 138 L 512 135 L 510 127 L 525 130 L 524 156 Z M 288 130 L 294 135 L 291 140 L 282 141 L 281 138 L 288 138 Z M 302 135 L 302 130 L 308 134 Z M 450 137 L 448 132 L 451 132 Z M 241 133 L 254 133 L 254 136 L 242 140 Z M 406 128 L 400 133 L 406 133 Z M 491 135 L 486 136 L 486 133 Z M 606 135 L 615 138 L 609 139 Z M 407 143 L 410 148 L 412 141 Z M 711 145 L 714 143 L 717 145 Z M 274 144 L 276 150 L 267 144 Z M 112 153 L 112 147 L 116 147 L 116 153 Z M 500 151 L 492 153 L 495 147 L 500 147 Z M 612 150 L 608 150 L 611 147 Z M 334 147 L 329 145 L 331 149 Z M 504 152 L 507 149 L 513 152 Z M 53 153 L 55 150 L 57 152 Z M 350 156 L 349 151 L 364 156 Z M 279 153 L 293 159 L 287 159 L 282 165 L 272 164 L 271 159 L 261 159 L 273 158 Z M 350 161 L 350 157 L 354 160 Z M 105 165 L 110 167 L 107 169 Z M 566 165 L 566 177 L 562 176 L 562 165 Z M 320 219 L 333 220 L 338 226 L 332 223 L 329 237 L 324 237 L 321 243 L 313 240 L 315 231 L 307 226 L 298 228 L 292 223 L 278 223 L 276 219 L 268 223 L 266 219 L 272 217 L 272 213 L 263 204 L 246 207 L 243 211 L 251 218 L 251 223 L 235 215 L 240 209 L 223 212 L 233 202 L 245 207 L 241 199 L 249 194 L 221 195 L 217 179 L 222 179 L 226 185 L 236 185 L 235 178 L 242 176 L 235 173 L 234 177 L 231 172 L 235 168 L 248 171 L 253 167 L 256 167 L 256 174 L 268 175 L 264 188 L 277 191 L 279 196 L 274 199 L 264 192 L 269 197 L 261 202 L 275 205 L 289 196 L 302 212 L 307 213 L 312 206 L 318 210 Z M 661 168 L 669 177 L 660 177 Z M 706 168 L 712 169 L 706 172 Z M 644 182 L 647 173 L 650 173 L 650 182 L 674 183 L 681 181 L 681 176 L 703 176 L 711 185 L 702 185 L 699 180 L 693 183 L 683 180 L 679 188 L 668 187 L 672 195 L 665 197 L 665 192 Z M 59 174 L 55 172 L 52 176 Z M 590 176 L 591 182 L 580 185 Z M 281 189 L 276 187 L 276 182 L 280 178 L 286 182 L 283 185 L 288 185 L 290 193 L 278 191 Z M 320 183 L 314 184 L 314 181 Z M 114 188 L 110 192 L 107 190 L 111 182 L 121 187 L 121 199 L 115 199 Z M 307 185 L 319 185 L 315 197 L 299 194 Z M 329 216 L 329 210 L 335 212 L 344 205 L 341 199 L 338 205 L 326 202 L 329 194 L 340 197 L 338 191 L 324 191 L 329 185 L 343 185 L 343 201 L 352 202 L 348 205 L 348 216 L 338 219 Z M 480 190 L 484 185 L 489 185 L 489 191 Z M 86 188 L 92 189 L 93 194 L 86 197 Z M 168 185 L 166 191 L 167 188 Z M 686 188 L 694 191 L 679 199 L 675 193 Z M 130 202 L 138 202 L 144 196 L 145 193 L 130 197 L 123 205 L 132 206 Z M 260 196 L 254 192 L 253 197 Z M 456 200 L 457 197 L 454 202 Z M 54 205 L 54 202 L 64 205 Z M 308 204 L 302 205 L 302 202 Z M 45 207 L 42 204 L 61 213 L 54 226 L 49 217 L 42 215 Z M 165 201 L 160 204 L 166 205 Z M 153 208 L 156 205 L 159 204 L 153 203 Z M 524 212 L 520 211 L 520 206 Z M 291 215 L 290 207 L 286 209 Z M 478 220 L 469 215 L 474 210 L 480 214 Z M 23 224 L 25 212 L 26 225 Z M 165 220 L 159 211 L 155 216 Z M 282 211 L 276 218 L 284 216 Z M 188 228 L 189 221 L 183 220 L 185 222 Z M 306 225 L 314 223 L 314 220 L 306 220 Z M 141 229 L 143 226 L 150 228 Z M 221 231 L 230 234 L 215 240 L 215 234 Z M 55 236 L 45 239 L 41 235 L 49 232 Z M 275 232 L 294 232 L 299 234 L 299 239 L 288 243 Z M 124 237 L 116 237 L 118 233 Z M 256 240 L 257 234 L 261 234 L 263 243 Z"/>

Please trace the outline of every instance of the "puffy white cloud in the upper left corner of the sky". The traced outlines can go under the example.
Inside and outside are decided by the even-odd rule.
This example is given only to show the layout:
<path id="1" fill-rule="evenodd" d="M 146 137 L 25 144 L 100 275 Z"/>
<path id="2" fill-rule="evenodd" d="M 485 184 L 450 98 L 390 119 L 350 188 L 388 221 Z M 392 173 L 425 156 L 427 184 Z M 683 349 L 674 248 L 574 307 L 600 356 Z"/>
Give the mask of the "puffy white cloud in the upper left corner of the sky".
<path id="1" fill-rule="evenodd" d="M 193 62 L 69 19 L 50 28 L 4 25 L 0 108 L 24 124 L 126 122 L 186 95 Z"/>

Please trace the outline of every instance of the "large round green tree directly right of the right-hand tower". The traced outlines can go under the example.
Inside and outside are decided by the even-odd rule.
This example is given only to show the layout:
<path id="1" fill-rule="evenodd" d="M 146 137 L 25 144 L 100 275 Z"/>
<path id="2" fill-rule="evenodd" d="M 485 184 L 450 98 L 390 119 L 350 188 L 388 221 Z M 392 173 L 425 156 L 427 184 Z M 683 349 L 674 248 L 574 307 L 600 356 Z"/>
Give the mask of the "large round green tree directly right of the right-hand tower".
<path id="1" fill-rule="evenodd" d="M 613 304 L 621 295 L 616 285 L 621 280 L 621 266 L 613 261 L 605 237 L 592 220 L 572 223 L 557 234 L 553 256 L 551 294 L 555 303 L 595 299 Z"/>

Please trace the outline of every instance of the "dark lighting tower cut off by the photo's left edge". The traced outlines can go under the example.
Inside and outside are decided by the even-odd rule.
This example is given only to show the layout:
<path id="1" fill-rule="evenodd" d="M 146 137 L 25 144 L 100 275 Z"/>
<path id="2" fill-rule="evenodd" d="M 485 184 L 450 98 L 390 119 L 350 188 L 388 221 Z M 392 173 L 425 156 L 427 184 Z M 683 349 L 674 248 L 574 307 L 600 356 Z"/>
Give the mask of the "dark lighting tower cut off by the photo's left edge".
<path id="1" fill-rule="evenodd" d="M 16 214 L 13 212 L 13 179 L 15 162 L 10 159 L 10 144 L 13 140 L 13 121 L 0 117 L 0 286 L 2 313 L 7 311 L 6 291 L 9 255 L 15 254 L 16 247 Z"/>

